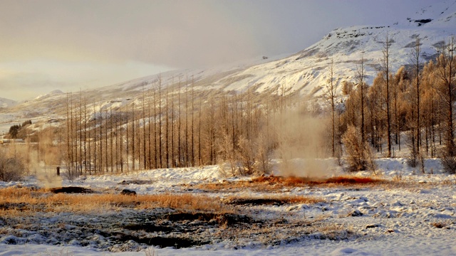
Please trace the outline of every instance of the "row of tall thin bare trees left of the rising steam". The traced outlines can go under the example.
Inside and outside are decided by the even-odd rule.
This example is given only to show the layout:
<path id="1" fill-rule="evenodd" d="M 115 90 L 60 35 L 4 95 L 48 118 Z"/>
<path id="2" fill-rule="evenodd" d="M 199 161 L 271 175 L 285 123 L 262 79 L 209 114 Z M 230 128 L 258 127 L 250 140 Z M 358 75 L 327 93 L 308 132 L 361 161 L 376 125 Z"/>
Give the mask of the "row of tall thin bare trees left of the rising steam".
<path id="1" fill-rule="evenodd" d="M 78 174 L 221 162 L 229 174 L 269 172 L 277 145 L 269 122 L 291 98 L 283 88 L 275 92 L 195 90 L 188 79 L 164 88 L 159 77 L 130 100 L 93 103 L 82 92 L 68 94 L 64 162 Z"/>

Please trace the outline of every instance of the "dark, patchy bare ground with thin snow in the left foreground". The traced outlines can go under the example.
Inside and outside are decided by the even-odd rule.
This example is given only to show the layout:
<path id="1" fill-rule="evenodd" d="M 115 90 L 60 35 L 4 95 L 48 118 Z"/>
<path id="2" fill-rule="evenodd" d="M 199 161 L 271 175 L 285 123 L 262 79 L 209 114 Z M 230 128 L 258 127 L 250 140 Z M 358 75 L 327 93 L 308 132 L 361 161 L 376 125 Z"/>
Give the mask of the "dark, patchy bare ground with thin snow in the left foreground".
<path id="1" fill-rule="evenodd" d="M 20 209 L 28 206 L 0 207 Z M 26 218 L 10 215 L 1 219 L 0 233 L 10 235 L 4 238 L 6 244 L 70 244 L 111 252 L 142 250 L 150 245 L 175 248 L 217 245 L 222 241 L 234 247 L 252 242 L 264 247 L 306 239 L 322 229 L 328 230 L 328 235 L 322 236 L 325 239 L 346 239 L 351 235 L 340 227 L 325 227 L 326 224 L 318 220 L 296 222 L 286 220 L 282 215 L 265 219 L 251 211 L 255 206 L 246 204 L 239 205 L 242 213 L 118 207 L 118 210 L 103 214 L 37 210 Z"/>

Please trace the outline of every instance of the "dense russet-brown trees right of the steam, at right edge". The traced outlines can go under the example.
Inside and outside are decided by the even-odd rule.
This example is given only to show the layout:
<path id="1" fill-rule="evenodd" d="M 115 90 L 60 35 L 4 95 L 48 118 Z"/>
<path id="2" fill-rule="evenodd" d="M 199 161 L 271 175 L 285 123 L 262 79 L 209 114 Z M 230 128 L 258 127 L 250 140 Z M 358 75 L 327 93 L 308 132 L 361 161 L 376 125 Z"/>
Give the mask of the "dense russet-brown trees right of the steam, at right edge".
<path id="1" fill-rule="evenodd" d="M 372 85 L 365 82 L 363 58 L 357 66 L 356 82 L 341 83 L 346 102 L 342 112 L 332 110 L 333 122 L 334 113 L 340 119 L 338 126 L 333 126 L 333 137 L 338 134 L 333 155 L 334 148 L 345 142 L 351 169 L 369 169 L 371 150 L 393 157 L 392 145 L 401 150 L 400 142 L 405 140 L 410 166 L 424 171 L 425 157 L 440 157 L 444 169 L 455 173 L 455 38 L 441 43 L 437 58 L 427 62 L 422 60 L 420 39 L 416 38 L 409 65 L 398 70 L 390 68 L 390 44 L 387 36 L 381 68 Z M 333 100 L 331 81 L 326 87 L 328 100 Z"/>

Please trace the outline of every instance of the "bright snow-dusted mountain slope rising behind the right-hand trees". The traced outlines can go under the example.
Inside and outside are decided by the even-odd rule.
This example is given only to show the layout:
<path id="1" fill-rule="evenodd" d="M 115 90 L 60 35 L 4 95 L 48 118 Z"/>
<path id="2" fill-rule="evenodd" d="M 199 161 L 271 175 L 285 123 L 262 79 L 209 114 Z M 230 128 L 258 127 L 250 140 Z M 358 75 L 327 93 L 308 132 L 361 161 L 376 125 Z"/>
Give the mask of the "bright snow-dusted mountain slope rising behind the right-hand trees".
<path id="1" fill-rule="evenodd" d="M 420 38 L 422 58 L 435 56 L 437 47 L 456 33 L 456 2 L 442 1 L 417 11 L 415 16 L 404 17 L 402 22 L 390 26 L 351 26 L 336 28 L 321 41 L 289 58 L 257 65 L 219 80 L 229 90 L 245 90 L 257 85 L 258 90 L 285 87 L 300 91 L 301 95 L 321 95 L 321 87 L 328 80 L 328 67 L 334 60 L 335 77 L 353 80 L 356 64 L 364 53 L 368 82 L 371 83 L 380 68 L 386 36 L 390 46 L 390 63 L 393 70 L 410 62 L 410 51 L 415 39 Z M 239 78 L 239 79 L 234 79 Z M 227 83 L 226 80 L 235 80 Z"/>

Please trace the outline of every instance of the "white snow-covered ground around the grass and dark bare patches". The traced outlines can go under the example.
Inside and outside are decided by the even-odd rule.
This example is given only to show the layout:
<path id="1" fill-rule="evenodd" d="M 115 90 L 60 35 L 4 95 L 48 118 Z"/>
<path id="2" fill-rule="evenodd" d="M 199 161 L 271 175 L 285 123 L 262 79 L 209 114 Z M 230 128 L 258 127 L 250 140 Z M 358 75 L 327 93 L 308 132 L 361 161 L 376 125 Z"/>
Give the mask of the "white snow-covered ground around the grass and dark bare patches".
<path id="1" fill-rule="evenodd" d="M 192 193 L 206 195 L 214 200 L 229 196 L 268 197 L 280 194 L 314 196 L 323 198 L 324 202 L 246 206 L 246 214 L 254 219 L 283 220 L 283 227 L 277 224 L 275 229 L 271 228 L 273 231 L 269 235 L 274 237 L 268 239 L 261 237 L 261 234 L 246 237 L 239 230 L 239 234 L 234 235 L 239 235 L 236 239 L 217 240 L 207 245 L 182 249 L 133 246 L 135 250 L 142 250 L 128 252 L 106 251 L 101 246 L 106 238 L 100 234 L 91 236 L 87 245 L 81 243 L 83 238 L 77 236 L 77 223 L 83 223 L 86 219 L 100 221 L 105 215 L 100 214 L 92 220 L 81 214 L 61 214 L 47 221 L 56 222 L 62 218 L 71 222 L 61 228 L 67 230 L 66 233 L 51 233 L 45 238 L 46 235 L 29 230 L 12 230 L 15 235 L 3 231 L 0 233 L 0 255 L 456 255 L 455 175 L 442 173 L 437 159 L 427 159 L 426 174 L 410 168 L 405 162 L 406 159 L 401 158 L 378 159 L 378 176 L 375 177 L 391 182 L 369 186 L 308 185 L 276 190 L 271 187 L 272 190 L 264 191 L 248 187 L 226 191 L 202 189 L 207 183 L 235 183 L 251 179 L 226 178 L 220 173 L 219 166 L 86 176 L 73 183 L 63 180 L 61 186 L 83 186 L 95 191 L 128 188 L 138 194 Z M 331 175 L 341 175 L 341 170 L 335 169 Z M 356 174 L 371 175 L 368 172 Z M 28 181 L 1 182 L 0 188 L 40 184 L 42 186 L 42 181 L 30 177 Z M 125 215 L 125 218 L 130 216 Z M 41 222 L 45 219 L 42 215 L 36 218 Z M 331 236 L 322 230 L 300 234 L 299 228 L 303 227 L 291 227 L 293 223 L 312 221 L 318 221 L 326 229 L 338 230 L 338 233 Z M 0 218 L 0 228 L 11 230 L 5 227 L 5 223 L 6 220 Z M 42 228 L 46 229 L 48 224 L 42 223 Z M 51 229 L 48 230 L 51 232 Z M 214 230 L 201 232 L 210 236 Z M 298 233 L 292 234 L 292 230 Z M 75 234 L 76 237 L 70 240 L 71 235 Z"/>

